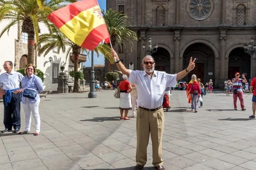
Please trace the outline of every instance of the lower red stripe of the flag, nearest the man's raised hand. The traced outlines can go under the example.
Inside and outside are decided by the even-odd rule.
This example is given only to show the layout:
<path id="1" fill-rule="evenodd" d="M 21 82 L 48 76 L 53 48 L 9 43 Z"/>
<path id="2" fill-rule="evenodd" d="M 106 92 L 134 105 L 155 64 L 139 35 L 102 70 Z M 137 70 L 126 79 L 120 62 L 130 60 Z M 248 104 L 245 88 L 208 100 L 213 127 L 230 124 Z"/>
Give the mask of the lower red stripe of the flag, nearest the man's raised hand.
<path id="1" fill-rule="evenodd" d="M 84 47 L 88 50 L 93 50 L 101 41 L 104 39 L 110 38 L 108 34 L 108 29 L 106 24 L 102 24 L 94 28 L 90 34 L 87 35 L 81 47 Z"/>

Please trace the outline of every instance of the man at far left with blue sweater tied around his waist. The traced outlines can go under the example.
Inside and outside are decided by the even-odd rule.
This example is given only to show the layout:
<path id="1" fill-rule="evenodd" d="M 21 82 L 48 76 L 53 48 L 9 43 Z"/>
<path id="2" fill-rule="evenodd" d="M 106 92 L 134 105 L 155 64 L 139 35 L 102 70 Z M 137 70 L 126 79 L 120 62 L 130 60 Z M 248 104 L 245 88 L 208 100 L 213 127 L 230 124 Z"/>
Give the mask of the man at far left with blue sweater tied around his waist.
<path id="1" fill-rule="evenodd" d="M 13 71 L 11 61 L 4 62 L 6 72 L 0 74 L 0 85 L 3 85 L 4 100 L 4 127 L 2 133 L 9 132 L 14 128 L 13 133 L 20 131 L 20 100 L 21 92 L 20 82 L 23 75 Z"/>

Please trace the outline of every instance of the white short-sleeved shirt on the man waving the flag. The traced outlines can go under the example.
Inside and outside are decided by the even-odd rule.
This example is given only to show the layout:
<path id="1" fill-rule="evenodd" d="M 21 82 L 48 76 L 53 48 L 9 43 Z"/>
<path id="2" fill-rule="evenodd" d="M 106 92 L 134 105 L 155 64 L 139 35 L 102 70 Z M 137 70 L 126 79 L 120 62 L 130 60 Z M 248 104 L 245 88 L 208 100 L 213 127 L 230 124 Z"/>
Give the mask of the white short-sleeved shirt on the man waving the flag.
<path id="1" fill-rule="evenodd" d="M 158 108 L 164 100 L 166 87 L 175 87 L 177 74 L 154 70 L 151 77 L 145 70 L 129 70 L 129 82 L 135 83 L 138 92 L 137 104 L 148 109 Z"/>

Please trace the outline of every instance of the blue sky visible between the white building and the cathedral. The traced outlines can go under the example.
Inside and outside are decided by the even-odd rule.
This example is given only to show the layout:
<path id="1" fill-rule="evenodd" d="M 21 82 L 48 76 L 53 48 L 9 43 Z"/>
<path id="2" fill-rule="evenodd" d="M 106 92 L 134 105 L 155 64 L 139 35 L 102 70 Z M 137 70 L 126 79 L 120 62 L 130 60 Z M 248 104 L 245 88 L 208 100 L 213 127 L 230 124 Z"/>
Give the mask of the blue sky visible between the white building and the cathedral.
<path id="1" fill-rule="evenodd" d="M 106 0 L 98 0 L 98 3 L 99 3 L 99 6 L 101 8 L 101 10 L 105 10 L 106 11 Z M 90 53 L 90 56 L 89 56 L 90 60 L 88 59 L 88 56 L 87 56 L 87 61 L 84 62 L 84 65 L 86 67 L 91 67 L 91 53 Z M 99 57 L 97 57 L 97 54 L 94 53 L 94 65 L 104 65 L 104 56 L 102 54 L 100 54 Z"/>

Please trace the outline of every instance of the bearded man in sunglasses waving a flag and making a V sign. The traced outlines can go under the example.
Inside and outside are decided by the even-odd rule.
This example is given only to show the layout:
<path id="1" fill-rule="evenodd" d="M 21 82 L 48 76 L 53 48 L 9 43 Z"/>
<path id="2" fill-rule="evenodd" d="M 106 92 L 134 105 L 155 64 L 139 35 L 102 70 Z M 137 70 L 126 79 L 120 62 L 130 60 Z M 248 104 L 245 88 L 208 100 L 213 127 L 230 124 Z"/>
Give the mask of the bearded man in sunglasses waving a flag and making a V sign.
<path id="1" fill-rule="evenodd" d="M 139 105 L 137 111 L 137 150 L 136 166 L 134 170 L 141 170 L 147 161 L 146 148 L 149 141 L 149 133 L 152 140 L 153 162 L 158 170 L 165 170 L 162 159 L 162 135 L 164 132 L 164 110 L 162 108 L 164 91 L 166 87 L 174 87 L 176 81 L 182 79 L 195 67 L 195 60 L 190 59 L 188 67 L 177 73 L 167 74 L 154 70 L 155 61 L 147 55 L 142 60 L 143 71 L 128 70 L 120 62 L 117 53 L 111 49 L 112 57 L 117 63 L 118 69 L 129 77 L 131 83 L 137 86 Z"/>

